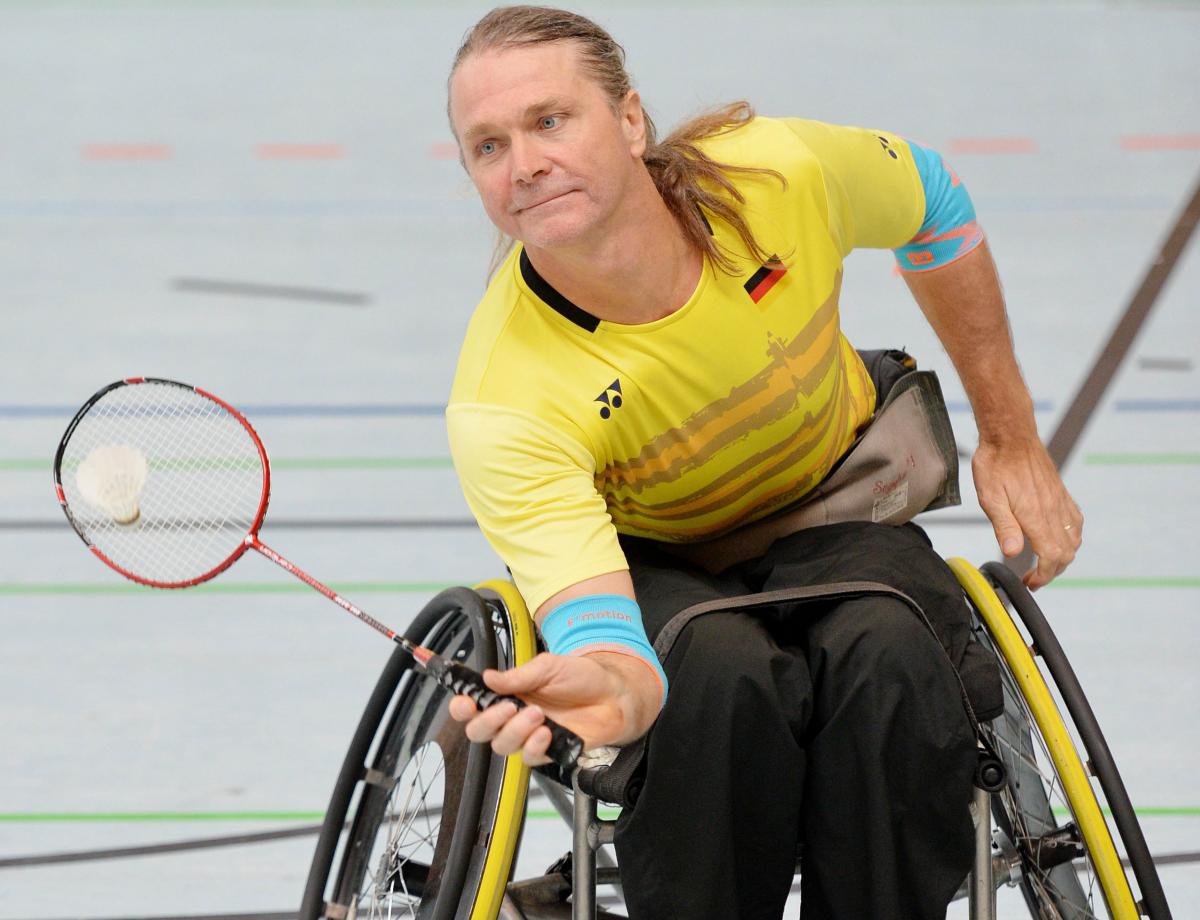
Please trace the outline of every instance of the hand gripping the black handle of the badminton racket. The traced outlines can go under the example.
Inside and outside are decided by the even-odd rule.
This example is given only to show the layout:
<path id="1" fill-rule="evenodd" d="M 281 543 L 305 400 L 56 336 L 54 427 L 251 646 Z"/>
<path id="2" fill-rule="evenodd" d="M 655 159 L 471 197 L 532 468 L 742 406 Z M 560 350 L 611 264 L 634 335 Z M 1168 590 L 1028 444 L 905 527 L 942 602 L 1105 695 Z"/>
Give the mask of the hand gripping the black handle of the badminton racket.
<path id="1" fill-rule="evenodd" d="M 583 748 L 590 750 L 641 738 L 658 716 L 661 700 L 650 668 L 612 653 L 542 653 L 518 668 L 485 671 L 484 683 L 528 705 L 518 710 L 502 702 L 480 711 L 470 697 L 457 696 L 450 700 L 450 715 L 467 723 L 472 741 L 488 741 L 503 756 L 520 751 L 530 766 L 550 763 L 547 716 L 580 735 Z"/>

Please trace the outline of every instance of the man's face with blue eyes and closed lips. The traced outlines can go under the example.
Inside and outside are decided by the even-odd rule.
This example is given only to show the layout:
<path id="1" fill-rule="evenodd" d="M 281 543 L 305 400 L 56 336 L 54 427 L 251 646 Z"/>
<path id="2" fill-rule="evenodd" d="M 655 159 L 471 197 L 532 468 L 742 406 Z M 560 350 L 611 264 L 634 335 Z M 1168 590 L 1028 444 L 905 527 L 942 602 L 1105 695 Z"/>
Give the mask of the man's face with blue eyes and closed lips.
<path id="1" fill-rule="evenodd" d="M 637 95 L 614 113 L 574 42 L 467 58 L 450 119 L 487 216 L 536 248 L 601 239 L 644 149 Z"/>

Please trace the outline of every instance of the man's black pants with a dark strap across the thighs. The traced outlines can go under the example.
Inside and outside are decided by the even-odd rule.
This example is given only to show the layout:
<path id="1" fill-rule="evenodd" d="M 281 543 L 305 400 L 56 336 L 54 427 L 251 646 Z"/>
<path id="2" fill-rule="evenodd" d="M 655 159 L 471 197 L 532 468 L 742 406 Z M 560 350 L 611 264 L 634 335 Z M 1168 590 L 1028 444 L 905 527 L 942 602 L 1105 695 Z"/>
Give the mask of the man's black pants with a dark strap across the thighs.
<path id="1" fill-rule="evenodd" d="M 652 641 L 694 603 L 828 581 L 892 584 L 965 623 L 914 525 L 805 530 L 720 576 L 647 541 L 625 549 Z M 971 866 L 976 753 L 938 644 L 889 597 L 689 624 L 665 662 L 641 798 L 617 826 L 631 920 L 775 920 L 798 850 L 804 920 L 944 918 Z"/>

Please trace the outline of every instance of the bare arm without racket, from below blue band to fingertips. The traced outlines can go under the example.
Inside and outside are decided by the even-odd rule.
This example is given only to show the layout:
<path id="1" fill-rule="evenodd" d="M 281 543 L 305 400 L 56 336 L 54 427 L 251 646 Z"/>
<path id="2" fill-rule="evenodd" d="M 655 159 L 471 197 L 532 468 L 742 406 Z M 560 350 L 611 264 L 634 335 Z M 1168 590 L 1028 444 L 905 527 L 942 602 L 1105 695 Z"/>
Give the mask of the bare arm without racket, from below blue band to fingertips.
<path id="1" fill-rule="evenodd" d="M 974 409 L 979 505 L 1004 555 L 1020 553 L 1028 537 L 1038 561 L 1025 583 L 1040 588 L 1075 558 L 1084 517 L 1038 438 L 988 245 L 932 271 L 902 273 Z"/>

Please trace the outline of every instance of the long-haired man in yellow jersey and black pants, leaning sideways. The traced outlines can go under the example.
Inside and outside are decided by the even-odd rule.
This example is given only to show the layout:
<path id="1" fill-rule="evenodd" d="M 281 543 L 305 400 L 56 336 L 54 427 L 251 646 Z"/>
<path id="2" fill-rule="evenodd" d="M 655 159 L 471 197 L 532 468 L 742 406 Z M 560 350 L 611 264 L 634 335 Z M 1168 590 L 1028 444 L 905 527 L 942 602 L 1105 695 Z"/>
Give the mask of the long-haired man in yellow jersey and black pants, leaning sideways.
<path id="1" fill-rule="evenodd" d="M 1032 588 L 1072 560 L 1082 518 L 1038 440 L 958 178 L 895 134 L 744 104 L 660 144 L 620 47 L 556 10 L 480 20 L 449 114 L 488 217 L 518 242 L 463 345 L 451 449 L 550 649 L 486 675 L 528 708 L 460 697 L 451 714 L 530 764 L 547 760 L 546 715 L 589 747 L 653 727 L 617 835 L 634 920 L 779 916 L 800 843 L 805 920 L 943 916 L 970 865 L 974 765 L 953 576 L 911 524 L 737 548 L 872 417 L 838 291 L 845 254 L 875 246 L 916 270 L 964 380 L 1003 552 L 1030 539 Z M 731 533 L 732 555 L 696 561 Z M 870 597 L 704 617 L 664 663 L 649 645 L 700 601 L 856 579 L 904 590 L 930 623 Z"/>

